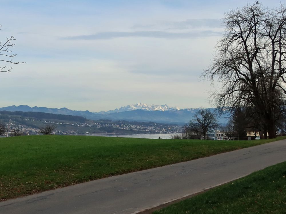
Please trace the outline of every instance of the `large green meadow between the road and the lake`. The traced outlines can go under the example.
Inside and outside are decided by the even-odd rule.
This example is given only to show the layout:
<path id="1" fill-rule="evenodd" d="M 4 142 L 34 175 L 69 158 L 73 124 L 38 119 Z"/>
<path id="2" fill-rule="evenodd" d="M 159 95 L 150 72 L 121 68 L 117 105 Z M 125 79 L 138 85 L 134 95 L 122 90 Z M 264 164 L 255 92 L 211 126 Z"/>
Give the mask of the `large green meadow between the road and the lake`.
<path id="1" fill-rule="evenodd" d="M 60 135 L 0 138 L 0 200 L 271 141 Z"/>

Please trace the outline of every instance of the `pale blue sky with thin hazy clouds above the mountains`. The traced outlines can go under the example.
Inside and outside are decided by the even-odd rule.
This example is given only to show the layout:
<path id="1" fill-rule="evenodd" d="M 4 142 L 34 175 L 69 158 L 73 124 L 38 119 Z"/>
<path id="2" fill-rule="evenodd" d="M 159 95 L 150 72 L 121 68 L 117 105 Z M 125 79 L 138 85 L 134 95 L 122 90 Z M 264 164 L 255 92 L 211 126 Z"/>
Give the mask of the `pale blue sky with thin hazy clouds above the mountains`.
<path id="1" fill-rule="evenodd" d="M 13 67 L 0 72 L 0 107 L 211 107 L 213 87 L 200 76 L 223 35 L 224 13 L 255 2 L 1 0 L 0 41 L 14 36 L 13 60 L 26 63 L 0 61 Z"/>

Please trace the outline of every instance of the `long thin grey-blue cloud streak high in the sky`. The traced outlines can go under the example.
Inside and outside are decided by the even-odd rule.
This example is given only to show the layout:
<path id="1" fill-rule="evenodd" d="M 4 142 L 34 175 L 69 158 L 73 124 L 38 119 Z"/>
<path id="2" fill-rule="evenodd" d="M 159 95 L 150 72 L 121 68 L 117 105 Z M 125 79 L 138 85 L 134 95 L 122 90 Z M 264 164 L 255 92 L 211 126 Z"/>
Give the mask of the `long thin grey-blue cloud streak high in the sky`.
<path id="1" fill-rule="evenodd" d="M 123 37 L 150 37 L 158 39 L 184 39 L 184 38 L 198 38 L 198 37 L 212 37 L 221 36 L 221 32 L 217 31 L 200 31 L 188 33 L 172 33 L 166 31 L 114 31 L 114 32 L 100 32 L 92 35 L 79 35 L 72 37 L 63 37 L 65 40 L 98 40 L 98 39 L 115 39 Z"/>

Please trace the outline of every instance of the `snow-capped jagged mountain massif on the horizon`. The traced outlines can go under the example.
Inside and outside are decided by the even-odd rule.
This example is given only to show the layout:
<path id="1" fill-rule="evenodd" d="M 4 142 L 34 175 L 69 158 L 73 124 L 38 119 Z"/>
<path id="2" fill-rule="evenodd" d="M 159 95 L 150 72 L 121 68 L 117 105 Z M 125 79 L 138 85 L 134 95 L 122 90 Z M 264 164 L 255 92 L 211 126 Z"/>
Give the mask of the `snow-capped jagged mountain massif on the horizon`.
<path id="1" fill-rule="evenodd" d="M 144 110 L 144 111 L 173 111 L 173 110 L 180 110 L 178 107 L 170 107 L 168 105 L 147 105 L 145 103 L 136 103 L 133 105 L 122 106 L 119 109 L 116 108 L 114 110 L 107 111 L 105 113 L 115 113 L 115 112 L 127 112 L 127 111 L 134 111 L 134 110 Z M 98 112 L 104 114 L 104 112 Z"/>

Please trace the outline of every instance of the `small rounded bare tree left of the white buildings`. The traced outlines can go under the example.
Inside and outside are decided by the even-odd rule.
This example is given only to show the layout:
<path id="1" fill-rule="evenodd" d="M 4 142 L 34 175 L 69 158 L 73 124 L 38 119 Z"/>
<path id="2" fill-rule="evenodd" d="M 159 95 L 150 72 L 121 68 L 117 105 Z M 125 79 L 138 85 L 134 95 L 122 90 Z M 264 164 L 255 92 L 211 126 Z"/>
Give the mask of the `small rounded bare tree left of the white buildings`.
<path id="1" fill-rule="evenodd" d="M 219 126 L 215 113 L 209 109 L 200 108 L 188 124 L 188 130 L 194 133 L 199 133 L 206 139 L 207 132 L 216 129 Z"/>

